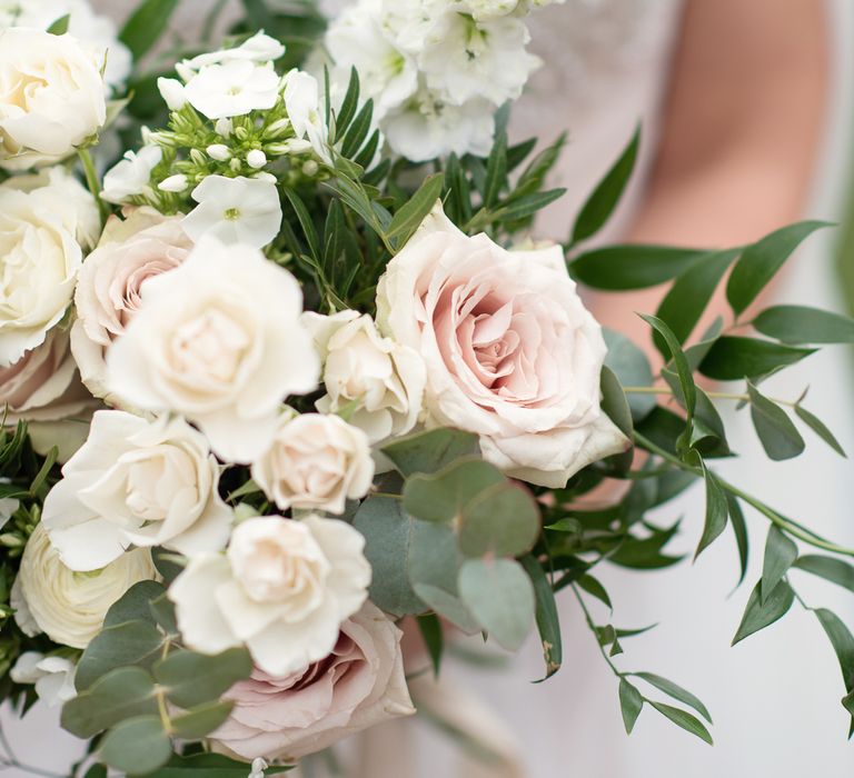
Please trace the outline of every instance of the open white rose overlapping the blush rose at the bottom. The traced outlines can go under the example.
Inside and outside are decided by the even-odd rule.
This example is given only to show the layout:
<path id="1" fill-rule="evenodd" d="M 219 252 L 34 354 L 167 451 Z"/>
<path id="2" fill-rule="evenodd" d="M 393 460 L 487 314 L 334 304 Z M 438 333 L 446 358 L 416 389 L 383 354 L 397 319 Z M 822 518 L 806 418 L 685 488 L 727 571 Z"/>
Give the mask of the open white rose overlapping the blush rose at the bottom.
<path id="1" fill-rule="evenodd" d="M 227 555 L 195 557 L 169 588 L 185 644 L 203 654 L 246 644 L 274 676 L 327 657 L 341 622 L 367 599 L 364 547 L 336 519 L 244 521 Z"/>

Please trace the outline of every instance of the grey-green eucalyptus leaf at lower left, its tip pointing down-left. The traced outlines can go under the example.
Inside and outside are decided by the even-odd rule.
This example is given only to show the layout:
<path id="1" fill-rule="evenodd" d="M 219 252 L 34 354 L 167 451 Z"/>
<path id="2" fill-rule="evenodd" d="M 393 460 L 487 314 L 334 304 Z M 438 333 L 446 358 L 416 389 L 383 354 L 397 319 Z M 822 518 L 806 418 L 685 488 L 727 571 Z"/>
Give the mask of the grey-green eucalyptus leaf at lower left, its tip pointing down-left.
<path id="1" fill-rule="evenodd" d="M 88 689 L 110 670 L 143 665 L 153 659 L 163 645 L 163 636 L 149 621 L 127 621 L 108 627 L 87 646 L 77 665 L 75 685 Z"/>

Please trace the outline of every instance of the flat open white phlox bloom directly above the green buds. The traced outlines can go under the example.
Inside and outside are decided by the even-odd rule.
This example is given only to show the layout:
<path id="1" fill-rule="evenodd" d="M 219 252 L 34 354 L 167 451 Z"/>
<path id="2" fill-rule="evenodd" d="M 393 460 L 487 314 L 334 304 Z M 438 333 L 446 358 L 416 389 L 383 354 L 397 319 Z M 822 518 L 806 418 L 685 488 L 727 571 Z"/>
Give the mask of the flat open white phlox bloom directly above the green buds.
<path id="1" fill-rule="evenodd" d="M 279 77 L 271 67 L 235 59 L 202 68 L 183 96 L 208 119 L 229 119 L 272 108 L 279 99 Z"/>

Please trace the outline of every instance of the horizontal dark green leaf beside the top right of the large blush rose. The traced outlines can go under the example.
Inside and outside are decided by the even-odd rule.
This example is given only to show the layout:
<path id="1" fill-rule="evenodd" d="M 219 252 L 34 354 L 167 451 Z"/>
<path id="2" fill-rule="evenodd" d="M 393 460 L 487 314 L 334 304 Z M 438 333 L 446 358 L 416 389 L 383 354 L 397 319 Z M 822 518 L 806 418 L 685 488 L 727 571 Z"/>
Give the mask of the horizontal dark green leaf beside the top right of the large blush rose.
<path id="1" fill-rule="evenodd" d="M 569 272 L 594 289 L 647 289 L 675 278 L 706 253 L 672 246 L 609 246 L 580 255 Z"/>

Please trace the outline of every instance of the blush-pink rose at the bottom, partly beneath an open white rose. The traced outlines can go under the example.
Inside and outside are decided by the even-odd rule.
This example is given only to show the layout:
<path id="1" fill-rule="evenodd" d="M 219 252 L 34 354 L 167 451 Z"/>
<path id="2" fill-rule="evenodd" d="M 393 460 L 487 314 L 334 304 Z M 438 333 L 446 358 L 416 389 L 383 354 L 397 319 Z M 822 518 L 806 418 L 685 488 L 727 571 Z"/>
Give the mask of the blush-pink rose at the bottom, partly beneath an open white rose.
<path id="1" fill-rule="evenodd" d="M 284 677 L 255 670 L 226 695 L 214 749 L 240 759 L 291 761 L 361 729 L 415 712 L 404 677 L 403 632 L 374 605 L 341 625 L 332 652 Z"/>

